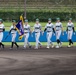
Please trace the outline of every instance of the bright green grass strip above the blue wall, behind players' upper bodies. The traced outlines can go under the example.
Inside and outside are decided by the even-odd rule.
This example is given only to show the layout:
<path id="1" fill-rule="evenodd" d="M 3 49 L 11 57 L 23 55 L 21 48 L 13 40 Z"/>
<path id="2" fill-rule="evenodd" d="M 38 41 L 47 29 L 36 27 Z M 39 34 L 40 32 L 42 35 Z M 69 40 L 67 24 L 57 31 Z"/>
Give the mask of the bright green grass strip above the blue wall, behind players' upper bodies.
<path id="1" fill-rule="evenodd" d="M 42 30 L 44 30 L 44 27 L 47 24 L 47 22 L 40 22 L 40 23 L 42 25 Z M 31 26 L 31 29 L 33 29 L 34 24 L 35 24 L 35 22 L 29 22 L 29 25 Z M 55 24 L 55 22 L 53 22 L 53 24 Z M 63 29 L 66 30 L 67 22 L 62 22 L 62 24 L 63 24 Z M 6 31 L 9 31 L 10 26 L 12 25 L 12 22 L 4 22 L 4 25 L 5 25 Z M 76 25 L 76 22 L 74 22 L 74 25 Z M 75 29 L 76 29 L 76 27 L 75 27 Z"/>

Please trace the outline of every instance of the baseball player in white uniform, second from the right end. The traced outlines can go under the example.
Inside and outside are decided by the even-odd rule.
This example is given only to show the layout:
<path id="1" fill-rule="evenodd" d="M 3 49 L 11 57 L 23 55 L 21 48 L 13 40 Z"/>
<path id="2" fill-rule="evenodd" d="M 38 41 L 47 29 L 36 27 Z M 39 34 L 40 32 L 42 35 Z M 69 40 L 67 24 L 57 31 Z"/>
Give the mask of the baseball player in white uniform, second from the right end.
<path id="1" fill-rule="evenodd" d="M 60 18 L 57 18 L 57 22 L 55 24 L 55 32 L 56 32 L 56 40 L 57 40 L 57 46 L 56 48 L 59 48 L 62 46 L 62 42 L 60 41 L 61 33 L 63 32 L 63 26 L 60 22 Z"/>

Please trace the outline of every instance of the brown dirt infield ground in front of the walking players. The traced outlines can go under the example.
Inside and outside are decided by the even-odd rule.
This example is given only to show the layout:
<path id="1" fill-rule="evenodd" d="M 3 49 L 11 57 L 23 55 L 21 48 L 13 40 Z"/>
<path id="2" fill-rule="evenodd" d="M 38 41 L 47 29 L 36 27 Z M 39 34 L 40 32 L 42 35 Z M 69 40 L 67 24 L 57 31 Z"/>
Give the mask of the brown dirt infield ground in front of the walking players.
<path id="1" fill-rule="evenodd" d="M 76 75 L 76 47 L 0 50 L 0 75 Z"/>

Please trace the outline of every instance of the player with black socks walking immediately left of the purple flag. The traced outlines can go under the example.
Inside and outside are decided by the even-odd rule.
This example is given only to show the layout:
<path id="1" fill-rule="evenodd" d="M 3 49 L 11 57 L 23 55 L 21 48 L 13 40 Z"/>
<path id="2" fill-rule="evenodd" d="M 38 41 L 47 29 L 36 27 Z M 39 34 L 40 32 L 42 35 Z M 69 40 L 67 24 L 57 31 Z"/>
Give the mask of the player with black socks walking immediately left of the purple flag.
<path id="1" fill-rule="evenodd" d="M 16 39 L 16 35 L 17 35 L 17 30 L 16 30 L 16 21 L 15 20 L 12 20 L 12 26 L 10 27 L 10 31 L 9 33 L 12 34 L 12 44 L 11 44 L 11 48 L 10 49 L 13 49 L 13 45 L 15 44 L 17 46 L 17 49 L 19 48 L 18 44 L 15 42 L 15 39 Z"/>

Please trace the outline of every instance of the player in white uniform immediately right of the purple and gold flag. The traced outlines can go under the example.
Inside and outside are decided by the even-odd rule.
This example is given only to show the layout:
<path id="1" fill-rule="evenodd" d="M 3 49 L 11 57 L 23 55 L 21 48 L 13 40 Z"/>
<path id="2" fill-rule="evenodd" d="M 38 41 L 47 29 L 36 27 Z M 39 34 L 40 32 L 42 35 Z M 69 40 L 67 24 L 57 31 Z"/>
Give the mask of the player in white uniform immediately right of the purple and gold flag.
<path id="1" fill-rule="evenodd" d="M 30 25 L 28 24 L 28 20 L 26 19 L 25 20 L 25 25 L 24 25 L 24 49 L 26 49 L 27 44 L 28 44 L 29 48 L 31 48 L 31 45 L 28 41 L 30 32 L 31 32 Z"/>

